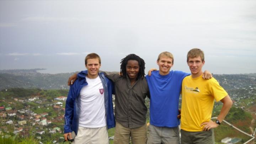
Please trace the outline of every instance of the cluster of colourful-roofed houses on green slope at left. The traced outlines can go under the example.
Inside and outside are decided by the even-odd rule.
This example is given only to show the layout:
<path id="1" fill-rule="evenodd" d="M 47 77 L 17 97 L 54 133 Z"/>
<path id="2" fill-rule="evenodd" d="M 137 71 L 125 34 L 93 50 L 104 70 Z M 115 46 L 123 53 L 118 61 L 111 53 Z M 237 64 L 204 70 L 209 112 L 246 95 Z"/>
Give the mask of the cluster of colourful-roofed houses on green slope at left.
<path id="1" fill-rule="evenodd" d="M 13 98 L 14 102 L 1 100 L 1 102 L 6 102 L 6 105 L 5 107 L 0 107 L 0 135 L 9 137 L 10 135 L 8 135 L 8 133 L 10 134 L 11 132 L 15 135 L 19 134 L 22 137 L 27 137 L 32 133 L 36 135 L 36 138 L 39 140 L 41 140 L 43 137 L 46 138 L 49 136 L 51 139 L 52 135 L 58 135 L 59 137 L 52 140 L 52 143 L 63 142 L 63 118 L 65 112 L 63 103 L 66 101 L 66 98 L 66 96 L 56 97 L 54 98 L 53 103 L 44 105 L 43 108 L 40 106 L 34 108 L 28 105 L 19 110 L 15 108 L 15 102 L 33 102 L 41 104 L 43 100 L 41 100 L 39 96 L 28 99 Z M 50 110 L 50 112 L 36 113 L 33 111 L 40 108 Z M 58 115 L 55 116 L 55 114 Z M 46 133 L 48 133 L 47 136 Z"/>

